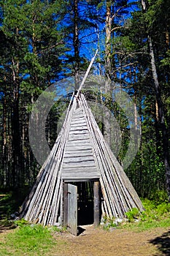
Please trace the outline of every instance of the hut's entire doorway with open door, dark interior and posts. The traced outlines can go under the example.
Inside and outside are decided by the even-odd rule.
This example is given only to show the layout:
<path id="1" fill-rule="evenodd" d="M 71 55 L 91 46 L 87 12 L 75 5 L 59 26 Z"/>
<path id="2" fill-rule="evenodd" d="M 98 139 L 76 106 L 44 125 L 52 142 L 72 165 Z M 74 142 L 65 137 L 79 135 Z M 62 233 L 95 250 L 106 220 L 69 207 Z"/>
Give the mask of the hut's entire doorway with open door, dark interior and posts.
<path id="1" fill-rule="evenodd" d="M 80 233 L 79 228 L 82 225 L 98 226 L 100 219 L 101 187 L 99 180 L 64 181 L 63 225 L 75 234 Z"/>

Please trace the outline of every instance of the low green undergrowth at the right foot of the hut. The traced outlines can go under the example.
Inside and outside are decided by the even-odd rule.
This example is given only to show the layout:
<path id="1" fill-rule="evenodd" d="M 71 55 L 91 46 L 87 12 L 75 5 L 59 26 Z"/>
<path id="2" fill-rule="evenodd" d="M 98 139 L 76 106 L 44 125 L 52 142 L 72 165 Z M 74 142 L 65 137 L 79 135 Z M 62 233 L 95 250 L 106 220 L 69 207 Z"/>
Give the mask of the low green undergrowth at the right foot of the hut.
<path id="1" fill-rule="evenodd" d="M 116 226 L 141 232 L 155 227 L 170 226 L 170 203 L 163 193 L 155 200 L 142 199 L 142 204 L 145 211 L 139 212 L 137 208 L 132 208 L 120 222 L 115 218 L 105 219 L 104 229 L 112 230 L 112 227 Z"/>

